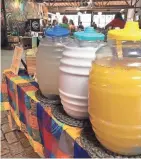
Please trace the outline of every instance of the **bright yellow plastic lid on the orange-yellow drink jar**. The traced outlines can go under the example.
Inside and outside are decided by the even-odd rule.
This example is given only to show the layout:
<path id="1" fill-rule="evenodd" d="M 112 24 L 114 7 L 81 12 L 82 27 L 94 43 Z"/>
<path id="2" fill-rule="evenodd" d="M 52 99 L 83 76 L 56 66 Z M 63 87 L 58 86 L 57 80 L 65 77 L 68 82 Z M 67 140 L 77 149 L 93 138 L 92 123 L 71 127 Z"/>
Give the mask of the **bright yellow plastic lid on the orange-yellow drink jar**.
<path id="1" fill-rule="evenodd" d="M 120 41 L 140 41 L 141 29 L 139 29 L 139 23 L 128 21 L 126 22 L 124 29 L 110 30 L 108 32 L 108 38 Z"/>

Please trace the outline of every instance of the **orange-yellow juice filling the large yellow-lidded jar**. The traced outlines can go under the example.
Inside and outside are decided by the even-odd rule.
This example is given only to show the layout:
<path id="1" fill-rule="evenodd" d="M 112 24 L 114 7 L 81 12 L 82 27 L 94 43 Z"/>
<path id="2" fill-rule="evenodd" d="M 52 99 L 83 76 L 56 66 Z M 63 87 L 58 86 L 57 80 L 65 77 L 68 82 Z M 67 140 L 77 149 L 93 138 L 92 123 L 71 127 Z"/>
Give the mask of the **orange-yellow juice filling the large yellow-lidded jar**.
<path id="1" fill-rule="evenodd" d="M 141 154 L 141 59 L 107 57 L 93 63 L 88 111 L 104 147 L 119 154 Z"/>

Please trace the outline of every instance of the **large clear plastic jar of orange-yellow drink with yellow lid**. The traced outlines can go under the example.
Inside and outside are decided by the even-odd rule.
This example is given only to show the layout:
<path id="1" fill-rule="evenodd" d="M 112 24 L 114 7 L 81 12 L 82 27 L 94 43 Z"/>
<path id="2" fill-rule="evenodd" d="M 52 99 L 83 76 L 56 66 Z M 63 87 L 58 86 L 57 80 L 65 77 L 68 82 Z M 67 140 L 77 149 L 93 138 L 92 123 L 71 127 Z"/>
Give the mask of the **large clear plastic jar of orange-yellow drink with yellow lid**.
<path id="1" fill-rule="evenodd" d="M 89 114 L 107 149 L 141 154 L 141 30 L 136 22 L 108 32 L 89 77 Z M 102 55 L 102 56 L 101 56 Z"/>

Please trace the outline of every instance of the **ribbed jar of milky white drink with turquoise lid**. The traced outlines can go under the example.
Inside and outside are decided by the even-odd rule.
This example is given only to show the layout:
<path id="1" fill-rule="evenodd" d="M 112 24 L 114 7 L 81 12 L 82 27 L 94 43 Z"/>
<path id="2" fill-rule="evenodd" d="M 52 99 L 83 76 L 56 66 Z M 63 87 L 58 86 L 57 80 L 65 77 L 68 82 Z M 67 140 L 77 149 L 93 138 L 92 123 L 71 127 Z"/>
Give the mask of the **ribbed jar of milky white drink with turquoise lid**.
<path id="1" fill-rule="evenodd" d="M 88 27 L 74 33 L 65 46 L 60 62 L 59 92 L 66 113 L 76 119 L 88 118 L 88 78 L 96 50 L 103 45 L 104 35 Z"/>

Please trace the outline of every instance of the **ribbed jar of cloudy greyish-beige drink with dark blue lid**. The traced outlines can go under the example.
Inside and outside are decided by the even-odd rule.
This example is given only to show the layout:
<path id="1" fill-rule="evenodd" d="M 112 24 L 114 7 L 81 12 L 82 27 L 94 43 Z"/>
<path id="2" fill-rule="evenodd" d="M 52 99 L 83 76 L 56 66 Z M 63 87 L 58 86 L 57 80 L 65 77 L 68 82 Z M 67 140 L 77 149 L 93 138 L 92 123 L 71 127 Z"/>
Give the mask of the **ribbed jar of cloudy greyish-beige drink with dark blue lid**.
<path id="1" fill-rule="evenodd" d="M 59 64 L 68 41 L 69 30 L 60 26 L 45 31 L 36 56 L 36 73 L 39 88 L 45 97 L 58 95 Z"/>

